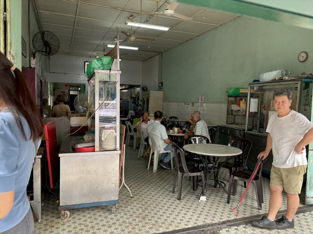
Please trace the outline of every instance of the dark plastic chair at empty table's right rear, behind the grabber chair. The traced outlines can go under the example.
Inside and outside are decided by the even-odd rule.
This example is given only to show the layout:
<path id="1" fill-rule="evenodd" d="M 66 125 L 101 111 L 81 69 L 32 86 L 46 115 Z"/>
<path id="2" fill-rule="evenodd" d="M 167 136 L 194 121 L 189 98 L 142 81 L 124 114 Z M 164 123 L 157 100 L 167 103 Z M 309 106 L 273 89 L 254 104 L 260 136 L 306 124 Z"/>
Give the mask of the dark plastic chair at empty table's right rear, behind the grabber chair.
<path id="1" fill-rule="evenodd" d="M 244 170 L 246 168 L 247 159 L 250 153 L 250 149 L 252 147 L 252 142 L 245 138 L 234 138 L 229 141 L 228 146 L 237 147 L 242 150 L 242 153 L 237 155 L 234 158 L 234 162 L 227 162 L 223 165 L 223 168 L 229 169 L 229 176 L 233 171 Z M 230 157 L 227 157 L 229 159 Z M 218 166 L 221 166 L 224 162 L 218 163 Z M 244 187 L 246 188 L 246 183 L 244 183 Z"/>

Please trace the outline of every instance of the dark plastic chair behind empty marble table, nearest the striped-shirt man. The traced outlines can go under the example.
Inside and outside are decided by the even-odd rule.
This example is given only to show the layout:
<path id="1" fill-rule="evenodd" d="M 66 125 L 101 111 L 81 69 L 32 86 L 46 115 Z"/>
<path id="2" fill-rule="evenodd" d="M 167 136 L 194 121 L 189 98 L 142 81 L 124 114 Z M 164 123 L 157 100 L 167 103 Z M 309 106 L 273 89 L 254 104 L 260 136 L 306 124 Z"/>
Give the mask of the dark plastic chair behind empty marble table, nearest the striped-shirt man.
<path id="1" fill-rule="evenodd" d="M 201 144 L 204 140 L 207 142 L 207 144 L 210 144 L 210 140 L 205 136 L 190 135 L 187 138 L 188 144 Z M 197 154 L 192 154 L 192 153 L 190 153 L 190 162 L 194 164 L 196 167 L 203 168 L 204 174 L 207 171 L 207 167 L 215 168 L 215 165 L 216 165 L 216 163 L 211 162 L 210 159 L 206 160 L 206 165 L 204 165 L 202 159 L 197 157 Z M 208 171 L 208 173 L 209 172 L 210 170 Z M 214 179 L 215 179 L 217 176 L 217 171 L 213 169 L 213 172 L 214 172 Z M 191 177 L 189 177 L 189 181 L 191 181 Z M 214 186 L 215 187 L 217 186 L 216 181 L 214 182 Z"/>

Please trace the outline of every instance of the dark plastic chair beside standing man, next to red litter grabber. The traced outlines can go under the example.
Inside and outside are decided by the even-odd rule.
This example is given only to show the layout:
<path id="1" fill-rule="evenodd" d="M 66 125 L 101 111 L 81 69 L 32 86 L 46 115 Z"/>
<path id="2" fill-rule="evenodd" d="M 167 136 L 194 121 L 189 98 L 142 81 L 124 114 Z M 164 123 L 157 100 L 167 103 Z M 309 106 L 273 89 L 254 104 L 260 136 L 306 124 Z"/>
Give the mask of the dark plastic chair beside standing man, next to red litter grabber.
<path id="1" fill-rule="evenodd" d="M 264 161 L 266 161 L 267 159 L 265 159 Z M 244 171 L 244 170 L 238 170 L 238 171 L 233 171 L 230 175 L 229 178 L 229 184 L 228 184 L 228 193 L 227 193 L 227 203 L 229 204 L 230 202 L 230 193 L 233 187 L 233 196 L 236 195 L 236 190 L 237 190 L 237 181 L 243 181 L 244 183 L 249 183 L 249 181 L 252 178 L 252 175 L 254 174 L 257 165 L 259 164 L 259 162 L 261 161 L 261 158 L 258 159 L 258 161 L 255 164 L 254 170 L 253 172 L 248 172 L 248 171 Z M 264 163 L 263 161 L 263 163 Z M 252 180 L 252 184 L 254 185 L 254 189 L 255 189 L 255 194 L 256 194 L 256 198 L 257 198 L 257 202 L 258 202 L 258 209 L 262 210 L 262 203 L 264 203 L 264 199 L 263 199 L 263 185 L 262 185 L 262 165 L 259 167 L 257 173 L 255 174 L 254 179 Z"/>

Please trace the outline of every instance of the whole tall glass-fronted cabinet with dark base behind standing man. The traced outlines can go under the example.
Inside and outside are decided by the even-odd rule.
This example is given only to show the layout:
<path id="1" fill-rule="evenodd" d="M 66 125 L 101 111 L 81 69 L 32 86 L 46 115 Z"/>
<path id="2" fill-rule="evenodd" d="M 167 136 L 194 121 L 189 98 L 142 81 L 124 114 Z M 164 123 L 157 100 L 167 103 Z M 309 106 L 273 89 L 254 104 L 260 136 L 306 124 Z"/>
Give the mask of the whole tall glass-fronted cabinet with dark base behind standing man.
<path id="1" fill-rule="evenodd" d="M 268 133 L 266 128 L 269 117 L 276 112 L 272 95 L 277 89 L 288 89 L 292 92 L 290 109 L 295 110 L 308 119 L 311 116 L 312 79 L 275 80 L 249 83 L 246 109 L 245 138 L 252 141 L 252 148 L 247 159 L 248 166 L 254 166 L 257 156 L 266 148 Z M 257 146 L 257 147 L 254 147 Z M 307 154 L 308 155 L 308 154 Z M 270 151 L 262 170 L 270 173 L 273 154 Z"/>

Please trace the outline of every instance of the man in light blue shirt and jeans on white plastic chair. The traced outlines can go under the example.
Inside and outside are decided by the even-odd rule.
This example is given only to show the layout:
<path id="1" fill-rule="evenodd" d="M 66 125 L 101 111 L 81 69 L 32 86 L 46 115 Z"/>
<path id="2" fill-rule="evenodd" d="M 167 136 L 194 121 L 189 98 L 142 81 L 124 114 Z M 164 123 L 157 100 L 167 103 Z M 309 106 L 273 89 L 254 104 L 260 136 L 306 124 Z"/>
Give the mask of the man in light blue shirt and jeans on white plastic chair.
<path id="1" fill-rule="evenodd" d="M 154 112 L 154 122 L 149 124 L 149 126 L 147 127 L 147 133 L 156 134 L 158 137 L 160 137 L 162 141 L 161 147 L 165 151 L 171 150 L 172 158 L 174 158 L 174 153 L 173 153 L 172 144 L 171 144 L 172 141 L 168 139 L 166 129 L 161 124 L 162 119 L 163 119 L 163 113 L 161 111 L 158 110 Z M 149 139 L 149 144 L 151 145 L 151 139 Z M 156 150 L 160 150 L 160 146 L 158 142 L 155 142 L 155 145 L 156 145 Z M 168 153 L 161 154 L 161 161 L 159 162 L 159 164 L 165 169 L 171 169 L 171 166 L 168 165 L 168 161 L 171 160 L 171 155 L 168 154 L 167 156 L 167 154 Z"/>

